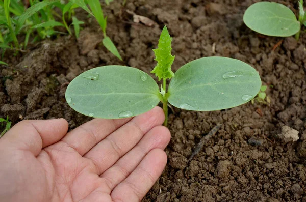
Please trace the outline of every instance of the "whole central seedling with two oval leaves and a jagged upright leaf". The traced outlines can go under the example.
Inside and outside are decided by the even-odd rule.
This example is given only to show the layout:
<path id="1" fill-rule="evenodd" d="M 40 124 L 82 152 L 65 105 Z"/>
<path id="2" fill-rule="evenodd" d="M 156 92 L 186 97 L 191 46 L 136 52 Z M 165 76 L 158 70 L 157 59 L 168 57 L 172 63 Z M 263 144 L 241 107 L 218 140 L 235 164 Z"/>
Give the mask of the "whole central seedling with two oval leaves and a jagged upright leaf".
<path id="1" fill-rule="evenodd" d="M 161 89 L 147 73 L 132 67 L 104 66 L 74 78 L 66 90 L 66 101 L 89 117 L 121 119 L 137 116 L 163 103 L 167 125 L 168 102 L 181 109 L 213 111 L 244 104 L 260 90 L 258 72 L 248 64 L 226 57 L 203 57 L 187 63 L 175 74 L 174 56 L 166 26 L 158 49 L 154 49 Z M 170 84 L 166 88 L 166 80 Z"/>

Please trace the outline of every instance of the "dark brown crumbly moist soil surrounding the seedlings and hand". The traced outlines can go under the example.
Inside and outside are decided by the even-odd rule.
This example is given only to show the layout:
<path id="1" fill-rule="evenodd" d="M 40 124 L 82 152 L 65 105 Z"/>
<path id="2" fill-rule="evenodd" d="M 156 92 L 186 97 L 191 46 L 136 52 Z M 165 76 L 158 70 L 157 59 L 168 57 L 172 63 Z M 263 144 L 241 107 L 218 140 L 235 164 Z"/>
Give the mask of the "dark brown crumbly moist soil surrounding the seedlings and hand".
<path id="1" fill-rule="evenodd" d="M 169 116 L 168 164 L 143 201 L 306 201 L 306 33 L 296 42 L 293 37 L 252 32 L 242 16 L 254 2 L 137 0 L 122 7 L 114 1 L 105 7 L 107 32 L 124 62 L 100 44 L 103 36 L 95 20 L 78 11 L 78 17 L 90 24 L 78 40 L 61 36 L 30 47 L 28 53 L 6 52 L 4 61 L 12 66 L 1 67 L 0 117 L 8 115 L 13 124 L 65 118 L 70 129 L 89 121 L 65 102 L 68 83 L 104 65 L 127 65 L 149 73 L 156 64 L 151 49 L 157 47 L 166 24 L 173 36 L 174 71 L 205 56 L 242 60 L 269 86 L 271 104 L 249 102 L 213 112 L 175 108 Z M 280 2 L 298 12 L 297 1 Z M 126 10 L 155 24 L 134 23 Z M 218 124 L 223 125 L 216 135 L 187 163 L 201 137 Z M 277 136 L 282 126 L 296 129 L 299 140 L 285 143 Z"/>

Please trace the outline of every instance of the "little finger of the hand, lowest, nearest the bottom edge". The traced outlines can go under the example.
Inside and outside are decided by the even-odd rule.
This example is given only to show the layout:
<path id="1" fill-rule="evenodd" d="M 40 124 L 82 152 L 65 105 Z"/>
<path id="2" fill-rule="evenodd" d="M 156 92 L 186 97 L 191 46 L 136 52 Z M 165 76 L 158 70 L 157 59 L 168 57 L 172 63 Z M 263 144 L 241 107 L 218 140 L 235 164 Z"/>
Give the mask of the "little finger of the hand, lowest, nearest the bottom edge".
<path id="1" fill-rule="evenodd" d="M 161 149 L 150 151 L 132 174 L 111 193 L 116 201 L 141 201 L 157 181 L 167 163 L 167 155 Z"/>

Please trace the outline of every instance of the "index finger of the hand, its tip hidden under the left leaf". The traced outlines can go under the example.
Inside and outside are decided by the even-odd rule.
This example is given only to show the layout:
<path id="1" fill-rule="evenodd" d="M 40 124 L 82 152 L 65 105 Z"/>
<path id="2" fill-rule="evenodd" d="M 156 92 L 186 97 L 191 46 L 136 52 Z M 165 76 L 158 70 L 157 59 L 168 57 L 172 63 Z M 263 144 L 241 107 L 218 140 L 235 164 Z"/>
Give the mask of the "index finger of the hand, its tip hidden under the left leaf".
<path id="1" fill-rule="evenodd" d="M 98 142 L 131 119 L 93 119 L 69 132 L 61 143 L 65 143 L 83 156 Z"/>

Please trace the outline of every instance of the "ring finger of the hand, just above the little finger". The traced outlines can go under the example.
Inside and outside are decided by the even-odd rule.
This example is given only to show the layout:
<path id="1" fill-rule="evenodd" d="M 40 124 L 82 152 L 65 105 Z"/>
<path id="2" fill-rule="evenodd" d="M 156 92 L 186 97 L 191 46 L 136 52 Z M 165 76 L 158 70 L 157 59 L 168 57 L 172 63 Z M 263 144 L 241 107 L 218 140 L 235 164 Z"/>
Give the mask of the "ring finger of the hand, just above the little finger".
<path id="1" fill-rule="evenodd" d="M 100 176 L 105 178 L 110 188 L 113 190 L 137 167 L 140 161 L 153 149 L 165 149 L 170 141 L 170 132 L 164 126 L 152 128 L 140 142 L 112 167 L 103 172 Z"/>

